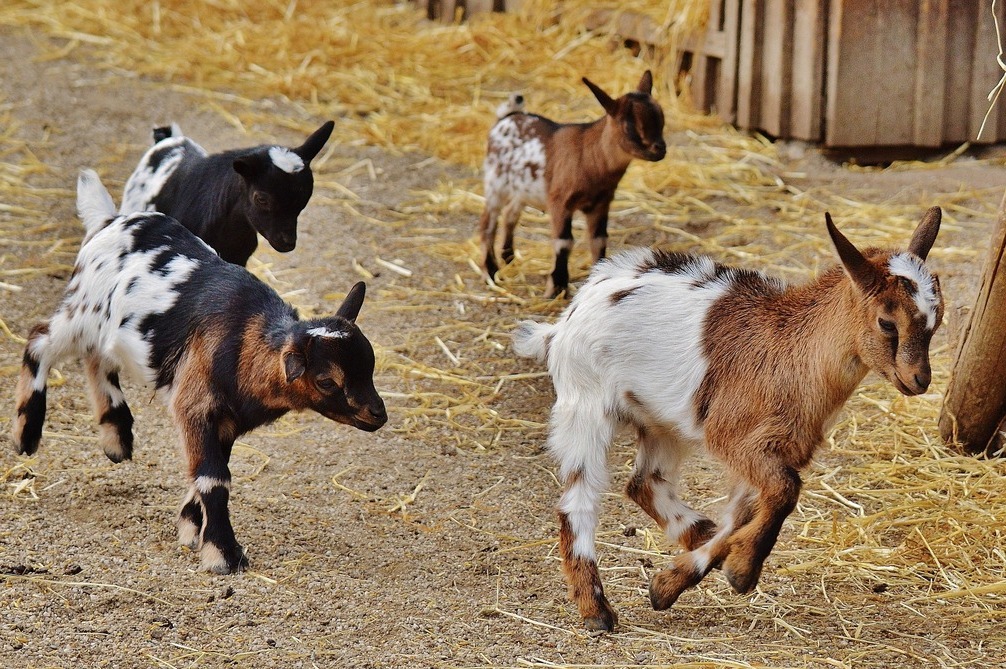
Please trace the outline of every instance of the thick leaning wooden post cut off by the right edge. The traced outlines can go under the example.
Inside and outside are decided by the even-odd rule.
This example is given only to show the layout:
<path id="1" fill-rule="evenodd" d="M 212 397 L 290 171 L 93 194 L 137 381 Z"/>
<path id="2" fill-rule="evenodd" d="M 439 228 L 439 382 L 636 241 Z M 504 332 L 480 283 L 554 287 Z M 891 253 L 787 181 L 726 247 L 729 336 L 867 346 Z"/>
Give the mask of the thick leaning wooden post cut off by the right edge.
<path id="1" fill-rule="evenodd" d="M 969 453 L 995 453 L 1006 421 L 1006 196 L 940 414 L 940 436 Z"/>

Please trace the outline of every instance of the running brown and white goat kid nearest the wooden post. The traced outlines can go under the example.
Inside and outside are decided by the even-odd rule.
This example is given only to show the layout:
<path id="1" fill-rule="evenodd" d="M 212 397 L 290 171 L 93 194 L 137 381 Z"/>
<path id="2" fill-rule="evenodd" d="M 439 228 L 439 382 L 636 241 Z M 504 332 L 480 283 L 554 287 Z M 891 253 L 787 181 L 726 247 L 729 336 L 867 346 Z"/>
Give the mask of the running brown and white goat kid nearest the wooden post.
<path id="1" fill-rule="evenodd" d="M 594 544 L 616 430 L 638 435 L 627 495 L 685 548 L 650 581 L 654 609 L 720 565 L 749 592 L 796 507 L 800 471 L 863 376 L 873 370 L 906 395 L 929 387 L 944 303 L 925 261 L 940 219 L 930 209 L 908 249 L 894 253 L 858 250 L 827 216 L 841 267 L 796 287 L 635 249 L 599 264 L 554 325 L 521 325 L 514 349 L 546 360 L 555 386 L 559 553 L 586 627 L 617 621 Z M 702 446 L 731 484 L 719 527 L 677 494 L 682 460 Z"/>

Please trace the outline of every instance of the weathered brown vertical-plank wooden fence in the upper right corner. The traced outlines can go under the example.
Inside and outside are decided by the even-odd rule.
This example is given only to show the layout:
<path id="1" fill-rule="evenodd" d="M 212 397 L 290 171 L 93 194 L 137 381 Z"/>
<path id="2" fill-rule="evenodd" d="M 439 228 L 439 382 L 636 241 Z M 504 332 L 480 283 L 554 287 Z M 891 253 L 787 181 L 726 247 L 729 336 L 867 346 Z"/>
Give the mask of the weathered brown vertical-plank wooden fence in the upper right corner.
<path id="1" fill-rule="evenodd" d="M 997 14 L 1006 28 L 1006 3 Z M 1003 73 L 979 0 L 712 0 L 684 50 L 703 111 L 830 147 L 979 141 Z M 1006 139 L 1003 103 L 981 142 Z"/>

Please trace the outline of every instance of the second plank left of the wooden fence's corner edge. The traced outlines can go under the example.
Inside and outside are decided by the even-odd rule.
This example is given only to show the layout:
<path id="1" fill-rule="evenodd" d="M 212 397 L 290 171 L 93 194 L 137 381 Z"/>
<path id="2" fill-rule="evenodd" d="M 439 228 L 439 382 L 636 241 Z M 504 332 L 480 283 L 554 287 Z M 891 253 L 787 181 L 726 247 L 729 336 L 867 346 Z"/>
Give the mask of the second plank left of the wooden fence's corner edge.
<path id="1" fill-rule="evenodd" d="M 765 1 L 762 39 L 762 111 L 759 127 L 776 137 L 790 132 L 794 0 Z"/>

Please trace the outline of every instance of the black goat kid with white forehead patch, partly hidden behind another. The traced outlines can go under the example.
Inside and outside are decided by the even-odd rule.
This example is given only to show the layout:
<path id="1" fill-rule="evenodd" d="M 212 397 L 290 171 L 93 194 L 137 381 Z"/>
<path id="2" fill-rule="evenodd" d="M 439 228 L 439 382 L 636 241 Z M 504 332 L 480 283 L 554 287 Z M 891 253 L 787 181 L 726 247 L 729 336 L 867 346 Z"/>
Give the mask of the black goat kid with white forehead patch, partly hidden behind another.
<path id="1" fill-rule="evenodd" d="M 126 182 L 122 214 L 160 211 L 228 263 L 243 266 L 262 233 L 285 254 L 314 190 L 311 161 L 332 134 L 326 122 L 301 146 L 259 146 L 209 155 L 177 125 L 154 130 L 154 146 Z"/>

